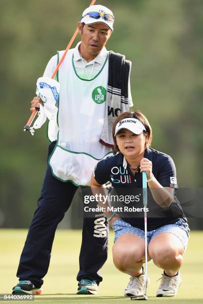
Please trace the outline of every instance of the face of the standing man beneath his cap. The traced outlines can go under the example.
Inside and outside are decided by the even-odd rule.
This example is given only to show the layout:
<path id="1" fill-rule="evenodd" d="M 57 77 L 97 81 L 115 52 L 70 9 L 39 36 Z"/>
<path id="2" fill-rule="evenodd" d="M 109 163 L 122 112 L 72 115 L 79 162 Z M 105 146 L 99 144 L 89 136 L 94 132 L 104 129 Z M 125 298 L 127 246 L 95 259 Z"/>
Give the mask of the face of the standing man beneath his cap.
<path id="1" fill-rule="evenodd" d="M 78 22 L 78 28 L 83 51 L 87 55 L 97 56 L 111 35 L 109 27 L 102 22 L 97 22 L 85 24 L 82 29 L 81 22 Z"/>

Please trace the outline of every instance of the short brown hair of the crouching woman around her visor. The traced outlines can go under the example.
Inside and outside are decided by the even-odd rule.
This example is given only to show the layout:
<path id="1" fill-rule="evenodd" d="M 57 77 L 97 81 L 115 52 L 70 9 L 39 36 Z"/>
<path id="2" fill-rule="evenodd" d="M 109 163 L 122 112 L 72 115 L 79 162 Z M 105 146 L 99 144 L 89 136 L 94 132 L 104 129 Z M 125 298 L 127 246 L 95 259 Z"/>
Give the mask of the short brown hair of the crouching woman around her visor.
<path id="1" fill-rule="evenodd" d="M 117 143 L 116 143 L 116 137 L 114 136 L 115 127 L 116 127 L 117 123 L 124 118 L 136 118 L 139 121 L 141 121 L 141 123 L 145 126 L 145 129 L 146 129 L 146 132 L 143 131 L 144 134 L 146 134 L 146 133 L 148 134 L 148 141 L 147 141 L 147 143 L 145 143 L 145 148 L 150 147 L 151 142 L 152 142 L 152 128 L 151 128 L 151 126 L 148 122 L 148 119 L 140 111 L 134 111 L 134 112 L 127 111 L 127 112 L 121 113 L 113 122 L 113 127 L 112 127 L 112 136 L 113 136 L 113 142 L 114 142 L 113 150 L 115 152 L 119 151 L 119 148 L 118 148 Z"/>

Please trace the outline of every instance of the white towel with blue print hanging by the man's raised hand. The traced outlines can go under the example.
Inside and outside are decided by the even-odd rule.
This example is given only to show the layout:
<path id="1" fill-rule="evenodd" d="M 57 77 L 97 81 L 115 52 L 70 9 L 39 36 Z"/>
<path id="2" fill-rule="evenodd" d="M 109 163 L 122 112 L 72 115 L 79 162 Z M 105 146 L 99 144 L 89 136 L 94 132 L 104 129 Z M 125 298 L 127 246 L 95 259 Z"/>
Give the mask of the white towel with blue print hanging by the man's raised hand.
<path id="1" fill-rule="evenodd" d="M 30 128 L 30 132 L 34 135 L 34 129 L 39 129 L 49 119 L 49 139 L 56 140 L 58 133 L 56 103 L 59 99 L 60 84 L 58 81 L 49 77 L 40 77 L 37 79 L 36 94 L 43 101 L 43 106 L 39 104 L 39 117 Z"/>

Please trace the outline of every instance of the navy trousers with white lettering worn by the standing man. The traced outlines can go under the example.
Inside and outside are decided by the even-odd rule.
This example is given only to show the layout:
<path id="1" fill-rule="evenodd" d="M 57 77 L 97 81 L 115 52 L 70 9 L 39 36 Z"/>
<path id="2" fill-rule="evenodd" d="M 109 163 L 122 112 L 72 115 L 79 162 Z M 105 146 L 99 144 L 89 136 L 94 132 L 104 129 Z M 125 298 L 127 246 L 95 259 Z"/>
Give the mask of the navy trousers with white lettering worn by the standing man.
<path id="1" fill-rule="evenodd" d="M 48 156 L 53 151 L 55 143 L 49 146 Z M 37 202 L 38 207 L 20 256 L 17 270 L 19 280 L 30 280 L 37 288 L 43 284 L 42 278 L 49 268 L 56 228 L 69 209 L 77 189 L 78 187 L 71 182 L 66 183 L 56 179 L 51 173 L 50 166 L 47 165 L 41 196 Z M 99 270 L 107 258 L 108 225 L 105 221 L 106 236 L 104 236 L 103 231 L 100 234 L 100 229 L 95 231 L 98 220 L 100 219 L 84 218 L 77 280 L 95 280 L 99 285 L 102 281 Z"/>

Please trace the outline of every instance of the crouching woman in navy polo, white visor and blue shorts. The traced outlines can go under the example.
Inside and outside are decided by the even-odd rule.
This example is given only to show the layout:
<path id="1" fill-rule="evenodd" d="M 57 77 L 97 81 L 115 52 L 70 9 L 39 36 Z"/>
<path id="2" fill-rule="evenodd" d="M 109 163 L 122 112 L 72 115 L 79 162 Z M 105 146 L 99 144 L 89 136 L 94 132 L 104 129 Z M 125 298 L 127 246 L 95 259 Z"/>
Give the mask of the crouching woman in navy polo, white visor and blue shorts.
<path id="1" fill-rule="evenodd" d="M 178 188 L 174 161 L 169 155 L 150 148 L 152 129 L 139 111 L 120 114 L 114 121 L 112 135 L 117 153 L 97 164 L 91 179 L 92 191 L 94 194 L 104 193 L 105 183 L 111 182 L 116 192 L 121 193 L 123 189 L 126 194 L 127 189 L 131 193 L 135 188 L 142 188 L 142 172 L 146 172 L 153 198 L 151 206 L 154 205 L 159 214 L 147 219 L 148 259 L 163 269 L 156 296 L 173 297 L 181 284 L 180 268 L 190 231 L 180 203 L 174 196 Z M 106 206 L 102 201 L 99 204 Z M 115 232 L 114 265 L 130 275 L 124 295 L 142 296 L 145 285 L 143 216 L 121 217 L 109 208 L 105 208 L 104 215 Z"/>

